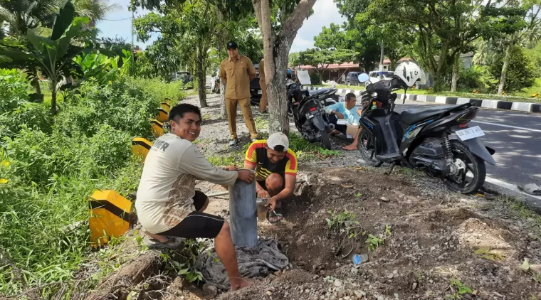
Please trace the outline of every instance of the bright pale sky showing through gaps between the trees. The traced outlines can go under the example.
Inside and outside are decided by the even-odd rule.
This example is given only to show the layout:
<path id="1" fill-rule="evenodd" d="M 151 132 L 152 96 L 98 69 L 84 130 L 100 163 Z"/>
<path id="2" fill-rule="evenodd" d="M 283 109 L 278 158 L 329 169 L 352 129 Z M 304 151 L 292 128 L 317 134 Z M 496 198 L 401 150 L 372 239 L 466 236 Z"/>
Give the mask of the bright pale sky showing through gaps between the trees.
<path id="1" fill-rule="evenodd" d="M 131 12 L 127 11 L 127 6 L 130 4 L 130 0 L 108 0 L 109 4 L 115 4 L 117 9 L 111 12 L 105 17 L 105 20 L 99 21 L 97 24 L 100 30 L 99 36 L 115 38 L 125 38 L 127 43 L 132 41 L 131 35 Z M 138 9 L 135 16 L 142 16 L 147 14 L 148 11 L 142 11 Z M 329 26 L 330 23 L 343 23 L 345 18 L 340 16 L 336 4 L 332 0 L 317 0 L 314 5 L 314 14 L 310 18 L 306 19 L 303 23 L 303 27 L 297 33 L 295 41 L 291 46 L 290 52 L 298 52 L 312 48 L 314 46 L 314 36 L 317 36 L 321 32 L 322 26 Z M 152 36 L 150 41 L 146 43 L 137 41 L 135 38 L 135 45 L 139 45 L 145 49 L 147 45 L 151 45 L 157 38 L 157 33 Z"/>

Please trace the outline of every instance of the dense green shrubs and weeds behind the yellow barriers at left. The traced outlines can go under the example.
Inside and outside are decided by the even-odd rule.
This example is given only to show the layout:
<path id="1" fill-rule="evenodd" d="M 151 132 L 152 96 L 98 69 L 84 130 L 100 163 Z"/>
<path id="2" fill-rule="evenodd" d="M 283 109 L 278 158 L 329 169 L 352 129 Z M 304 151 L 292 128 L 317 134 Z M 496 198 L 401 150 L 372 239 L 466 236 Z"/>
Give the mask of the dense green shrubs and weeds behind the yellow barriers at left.
<path id="1" fill-rule="evenodd" d="M 26 101 L 27 89 L 19 73 L 0 71 L 0 294 L 11 296 L 73 279 L 90 250 L 88 197 L 97 188 L 135 190 L 142 164 L 132 137 L 150 135 L 163 97 L 182 99 L 177 84 L 87 81 L 52 117 Z"/>

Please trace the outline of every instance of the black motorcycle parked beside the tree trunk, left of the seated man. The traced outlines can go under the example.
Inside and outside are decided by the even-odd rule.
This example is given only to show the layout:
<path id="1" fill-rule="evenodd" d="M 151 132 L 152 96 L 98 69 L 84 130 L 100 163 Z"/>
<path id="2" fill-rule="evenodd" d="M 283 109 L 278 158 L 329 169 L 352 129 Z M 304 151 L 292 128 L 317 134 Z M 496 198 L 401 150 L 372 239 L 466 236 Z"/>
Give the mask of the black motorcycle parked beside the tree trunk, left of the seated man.
<path id="1" fill-rule="evenodd" d="M 288 95 L 288 111 L 295 119 L 295 127 L 304 139 L 310 142 L 321 141 L 325 149 L 331 149 L 329 133 L 335 125 L 329 123 L 325 113 L 325 99 L 301 90 L 297 82 L 286 84 Z"/>

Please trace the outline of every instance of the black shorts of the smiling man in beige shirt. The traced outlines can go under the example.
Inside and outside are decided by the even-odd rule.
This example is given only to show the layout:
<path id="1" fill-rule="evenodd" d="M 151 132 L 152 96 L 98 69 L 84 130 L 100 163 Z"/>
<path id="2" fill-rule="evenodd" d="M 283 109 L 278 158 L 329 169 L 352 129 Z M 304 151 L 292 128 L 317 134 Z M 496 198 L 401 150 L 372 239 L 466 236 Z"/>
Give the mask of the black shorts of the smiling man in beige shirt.
<path id="1" fill-rule="evenodd" d="M 170 235 L 187 239 L 194 239 L 196 237 L 214 238 L 218 236 L 221 227 L 224 226 L 224 218 L 198 211 L 203 208 L 207 198 L 201 191 L 195 191 L 194 206 L 196 211 L 187 215 L 177 226 L 160 232 L 159 235 Z"/>

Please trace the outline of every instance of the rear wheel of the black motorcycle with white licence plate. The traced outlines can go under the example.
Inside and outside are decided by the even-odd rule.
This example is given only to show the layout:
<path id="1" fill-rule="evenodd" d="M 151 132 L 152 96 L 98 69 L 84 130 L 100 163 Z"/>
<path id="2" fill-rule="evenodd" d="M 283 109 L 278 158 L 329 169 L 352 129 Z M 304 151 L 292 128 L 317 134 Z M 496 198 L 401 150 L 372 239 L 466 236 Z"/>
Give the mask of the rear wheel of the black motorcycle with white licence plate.
<path id="1" fill-rule="evenodd" d="M 485 183 L 485 161 L 471 153 L 460 141 L 451 141 L 451 152 L 453 152 L 453 162 L 460 160 L 466 170 L 443 178 L 443 183 L 451 191 L 457 193 L 475 193 Z M 471 176 L 467 176 L 468 173 L 471 173 Z"/>

